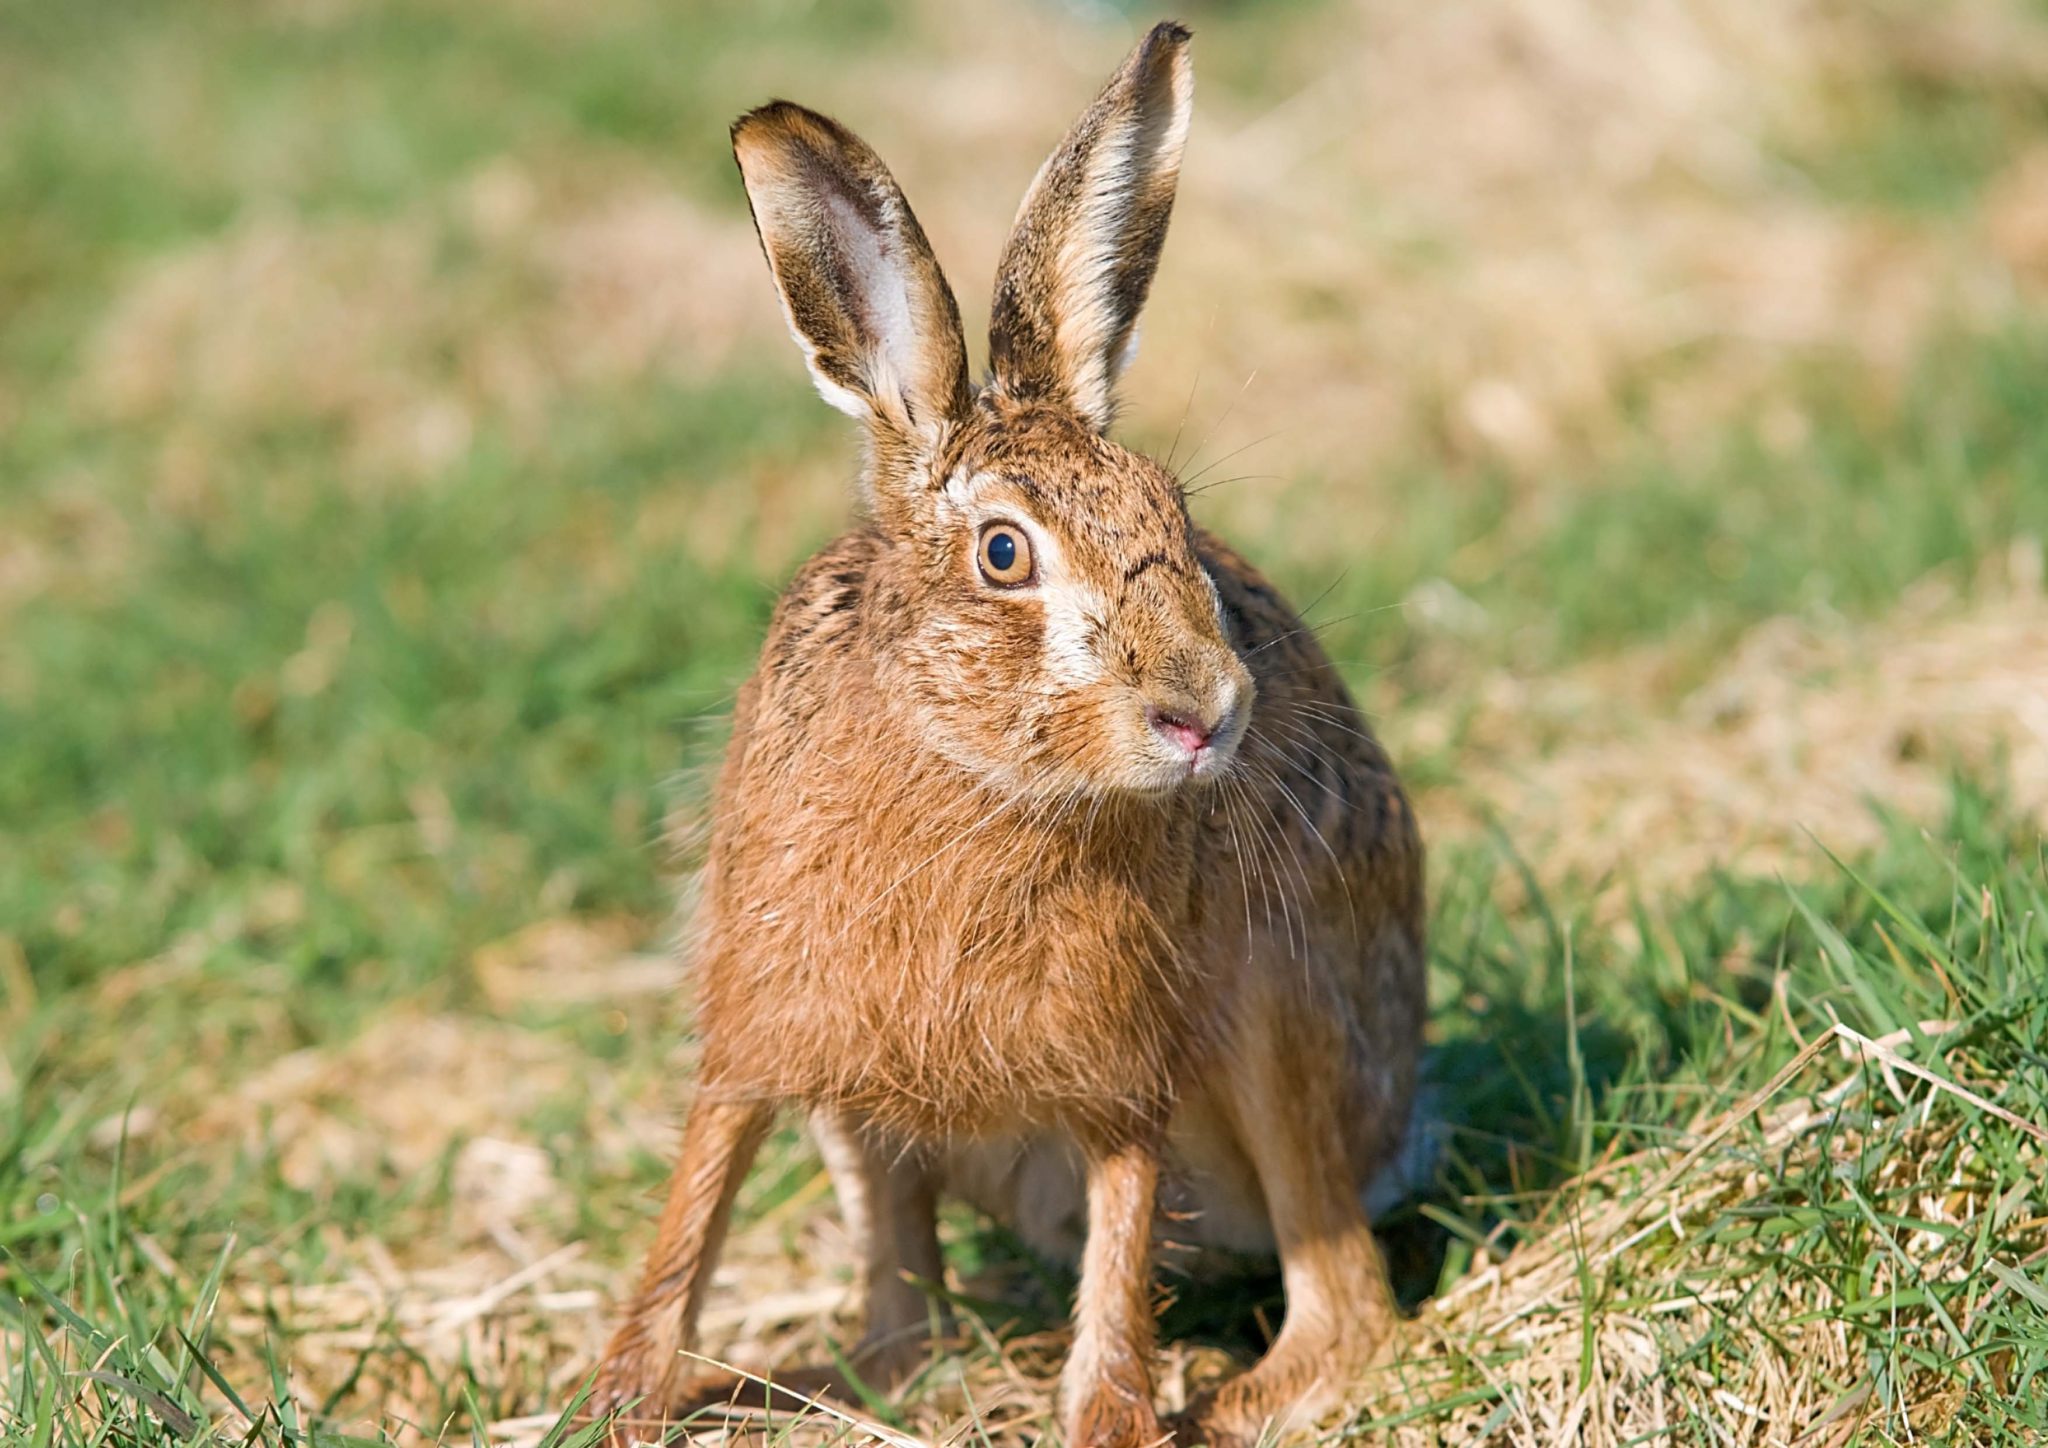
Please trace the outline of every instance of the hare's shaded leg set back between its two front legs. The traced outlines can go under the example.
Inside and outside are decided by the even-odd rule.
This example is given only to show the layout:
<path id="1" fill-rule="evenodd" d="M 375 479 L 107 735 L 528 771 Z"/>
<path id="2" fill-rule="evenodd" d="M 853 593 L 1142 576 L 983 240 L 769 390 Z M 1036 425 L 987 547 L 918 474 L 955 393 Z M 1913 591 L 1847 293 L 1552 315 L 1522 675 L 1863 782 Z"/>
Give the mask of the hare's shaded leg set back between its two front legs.
<path id="1" fill-rule="evenodd" d="M 936 1182 L 922 1153 L 854 1116 L 819 1112 L 811 1131 L 860 1251 L 866 1321 L 852 1364 L 870 1387 L 891 1389 L 924 1358 L 936 1325 L 924 1286 L 944 1282 L 946 1272 Z"/>

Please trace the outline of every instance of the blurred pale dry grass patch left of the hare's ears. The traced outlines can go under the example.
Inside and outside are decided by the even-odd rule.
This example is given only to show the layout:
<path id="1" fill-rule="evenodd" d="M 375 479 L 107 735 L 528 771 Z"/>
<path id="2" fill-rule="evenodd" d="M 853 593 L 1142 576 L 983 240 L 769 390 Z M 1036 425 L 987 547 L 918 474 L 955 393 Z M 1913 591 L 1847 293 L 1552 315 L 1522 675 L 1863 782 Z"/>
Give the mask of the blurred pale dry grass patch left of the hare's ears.
<path id="1" fill-rule="evenodd" d="M 252 217 L 156 262 L 109 309 L 82 387 L 109 418 L 174 422 L 174 494 L 193 471 L 180 440 L 279 426 L 338 428 L 356 477 L 432 477 L 479 416 L 543 416 L 651 373 L 702 379 L 741 340 L 780 336 L 752 305 L 750 248 L 743 219 L 653 176 L 504 160 L 420 215 Z"/>

